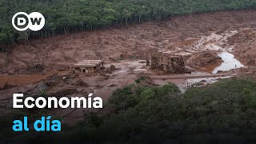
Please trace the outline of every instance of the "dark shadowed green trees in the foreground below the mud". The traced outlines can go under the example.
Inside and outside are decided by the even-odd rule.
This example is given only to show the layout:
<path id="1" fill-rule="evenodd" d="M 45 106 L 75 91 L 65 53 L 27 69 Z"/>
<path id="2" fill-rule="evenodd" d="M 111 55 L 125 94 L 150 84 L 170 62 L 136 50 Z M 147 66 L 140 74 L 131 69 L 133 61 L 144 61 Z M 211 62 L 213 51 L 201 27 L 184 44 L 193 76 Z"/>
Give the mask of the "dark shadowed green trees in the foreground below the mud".
<path id="1" fill-rule="evenodd" d="M 110 112 L 87 113 L 82 122 L 62 126 L 61 133 L 30 132 L 18 137 L 10 129 L 13 118 L 24 114 L 41 118 L 46 110 L 1 115 L 0 139 L 26 143 L 256 142 L 256 82 L 249 78 L 224 79 L 185 93 L 172 83 L 149 86 L 146 78 L 139 78 L 115 90 L 104 107 Z"/>

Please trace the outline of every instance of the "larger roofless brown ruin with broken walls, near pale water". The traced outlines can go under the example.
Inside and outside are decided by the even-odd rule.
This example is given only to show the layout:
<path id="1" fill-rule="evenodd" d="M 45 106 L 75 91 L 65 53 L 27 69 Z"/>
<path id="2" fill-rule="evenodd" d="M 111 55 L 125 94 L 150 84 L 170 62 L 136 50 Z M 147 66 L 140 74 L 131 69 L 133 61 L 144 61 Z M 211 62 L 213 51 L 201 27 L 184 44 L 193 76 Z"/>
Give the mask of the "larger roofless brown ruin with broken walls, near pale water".
<path id="1" fill-rule="evenodd" d="M 150 53 L 146 57 L 146 65 L 152 70 L 162 70 L 170 74 L 190 73 L 186 70 L 186 57 L 166 53 Z"/>

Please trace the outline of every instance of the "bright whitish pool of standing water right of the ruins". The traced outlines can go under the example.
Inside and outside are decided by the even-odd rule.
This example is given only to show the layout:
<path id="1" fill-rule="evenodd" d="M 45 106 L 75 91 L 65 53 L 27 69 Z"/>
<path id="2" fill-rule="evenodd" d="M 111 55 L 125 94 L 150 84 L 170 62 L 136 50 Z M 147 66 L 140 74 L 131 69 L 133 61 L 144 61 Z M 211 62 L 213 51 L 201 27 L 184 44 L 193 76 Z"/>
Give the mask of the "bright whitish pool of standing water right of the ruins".
<path id="1" fill-rule="evenodd" d="M 214 69 L 213 74 L 217 74 L 218 71 L 229 71 L 243 67 L 242 63 L 235 59 L 233 54 L 224 51 L 219 53 L 218 56 L 221 57 L 224 62 L 222 62 L 221 66 Z"/>

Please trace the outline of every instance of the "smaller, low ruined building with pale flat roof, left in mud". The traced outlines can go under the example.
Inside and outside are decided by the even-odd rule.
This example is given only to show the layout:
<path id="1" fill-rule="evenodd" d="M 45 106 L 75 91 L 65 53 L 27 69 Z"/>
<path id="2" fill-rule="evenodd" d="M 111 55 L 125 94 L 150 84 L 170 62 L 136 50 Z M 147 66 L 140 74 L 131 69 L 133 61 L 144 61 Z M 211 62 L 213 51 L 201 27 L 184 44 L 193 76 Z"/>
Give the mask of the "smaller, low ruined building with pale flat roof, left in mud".
<path id="1" fill-rule="evenodd" d="M 94 74 L 98 73 L 104 62 L 102 60 L 83 60 L 72 66 L 72 71 L 74 74 Z"/>

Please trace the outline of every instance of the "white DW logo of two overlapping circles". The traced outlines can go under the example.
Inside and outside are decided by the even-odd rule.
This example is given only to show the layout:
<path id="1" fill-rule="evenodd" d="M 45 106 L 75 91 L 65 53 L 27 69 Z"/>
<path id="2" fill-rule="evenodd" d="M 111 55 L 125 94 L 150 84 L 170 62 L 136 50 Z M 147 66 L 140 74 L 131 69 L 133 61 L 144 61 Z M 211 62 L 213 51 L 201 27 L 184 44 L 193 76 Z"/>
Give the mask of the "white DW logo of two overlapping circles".
<path id="1" fill-rule="evenodd" d="M 24 31 L 27 29 L 38 31 L 45 26 L 46 19 L 41 13 L 33 12 L 26 14 L 25 12 L 18 12 L 12 18 L 12 24 L 16 30 Z"/>

